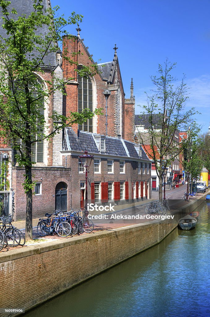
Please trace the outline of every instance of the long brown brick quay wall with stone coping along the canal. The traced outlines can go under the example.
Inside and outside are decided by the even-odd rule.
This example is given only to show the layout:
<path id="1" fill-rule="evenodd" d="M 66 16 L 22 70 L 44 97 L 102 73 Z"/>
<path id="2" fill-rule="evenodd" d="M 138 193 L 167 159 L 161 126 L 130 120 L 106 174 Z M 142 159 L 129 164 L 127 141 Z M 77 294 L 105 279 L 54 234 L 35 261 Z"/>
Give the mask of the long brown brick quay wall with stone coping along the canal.
<path id="1" fill-rule="evenodd" d="M 193 211 L 203 202 L 204 198 L 197 199 L 187 209 Z M 186 209 L 181 211 L 186 212 Z M 29 310 L 156 245 L 177 226 L 180 212 L 176 213 L 173 220 L 135 224 L 0 252 L 0 279 L 5 286 L 0 294 L 0 307 Z"/>

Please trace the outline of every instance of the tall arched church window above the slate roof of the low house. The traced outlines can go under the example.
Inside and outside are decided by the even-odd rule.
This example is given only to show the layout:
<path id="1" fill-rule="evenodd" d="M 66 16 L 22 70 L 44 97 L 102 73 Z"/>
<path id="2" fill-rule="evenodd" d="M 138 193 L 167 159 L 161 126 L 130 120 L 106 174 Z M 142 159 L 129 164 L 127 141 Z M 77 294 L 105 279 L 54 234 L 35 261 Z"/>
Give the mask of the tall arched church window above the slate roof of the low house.
<path id="1" fill-rule="evenodd" d="M 79 66 L 79 69 L 81 67 Z M 93 111 L 93 85 L 90 76 L 80 77 L 78 74 L 78 112 L 81 113 L 85 108 Z M 92 119 L 88 119 L 82 125 L 78 125 L 79 130 L 93 132 Z"/>

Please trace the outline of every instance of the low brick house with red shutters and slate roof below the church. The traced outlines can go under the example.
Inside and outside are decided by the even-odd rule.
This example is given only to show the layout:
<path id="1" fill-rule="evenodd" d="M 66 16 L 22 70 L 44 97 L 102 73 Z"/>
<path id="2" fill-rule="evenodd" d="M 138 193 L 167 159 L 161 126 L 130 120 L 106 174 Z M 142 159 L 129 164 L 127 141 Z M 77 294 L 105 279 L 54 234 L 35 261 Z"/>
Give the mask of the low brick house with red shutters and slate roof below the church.
<path id="1" fill-rule="evenodd" d="M 76 134 L 66 128 L 61 153 L 63 164 L 73 171 L 66 188 L 73 206 L 84 207 L 85 174 L 79 156 L 85 150 L 94 156 L 88 173 L 88 203 L 126 204 L 151 197 L 151 164 L 141 146 L 121 137 Z"/>

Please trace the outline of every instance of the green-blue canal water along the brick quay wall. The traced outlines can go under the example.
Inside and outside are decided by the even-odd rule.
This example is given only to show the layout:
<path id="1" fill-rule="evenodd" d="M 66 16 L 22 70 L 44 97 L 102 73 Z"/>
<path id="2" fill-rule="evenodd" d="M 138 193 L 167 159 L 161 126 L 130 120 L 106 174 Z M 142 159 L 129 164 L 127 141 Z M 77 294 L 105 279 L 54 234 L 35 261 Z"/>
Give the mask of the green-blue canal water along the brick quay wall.
<path id="1" fill-rule="evenodd" d="M 24 317 L 209 317 L 210 203 L 198 211 L 195 229 L 175 229 L 155 247 Z"/>

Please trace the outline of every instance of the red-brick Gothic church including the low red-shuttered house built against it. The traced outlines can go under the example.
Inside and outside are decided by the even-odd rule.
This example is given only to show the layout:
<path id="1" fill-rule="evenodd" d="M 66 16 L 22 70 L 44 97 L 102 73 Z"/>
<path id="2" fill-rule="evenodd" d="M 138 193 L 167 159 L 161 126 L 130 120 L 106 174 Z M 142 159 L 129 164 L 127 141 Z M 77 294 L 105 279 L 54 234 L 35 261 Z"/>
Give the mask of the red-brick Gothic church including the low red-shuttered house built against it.
<path id="1" fill-rule="evenodd" d="M 49 6 L 48 0 L 43 1 Z M 30 13 L 32 3 L 16 1 L 19 15 Z M 24 10 L 24 12 L 23 12 Z M 28 12 L 26 12 L 28 10 Z M 74 59 L 80 68 L 94 63 L 88 48 L 77 36 L 64 36 L 63 49 Z M 81 112 L 85 108 L 94 111 L 102 108 L 104 114 L 95 115 L 82 125 L 74 124 L 56 134 L 51 142 L 37 142 L 33 149 L 36 164 L 33 166 L 35 195 L 33 197 L 33 217 L 43 216 L 54 209 L 63 211 L 84 206 L 85 174 L 79 156 L 87 150 L 94 155 L 88 174 L 89 202 L 114 202 L 126 204 L 146 198 L 151 194 L 151 164 L 143 148 L 134 143 L 135 99 L 133 82 L 130 85 L 130 98 L 126 99 L 118 62 L 117 47 L 114 47 L 113 61 L 98 64 L 99 73 L 93 77 L 80 77 L 75 64 L 62 60 L 62 52 L 48 54 L 44 73 L 37 74 L 38 80 L 48 88 L 46 80 L 52 76 L 63 78 L 67 83 L 66 94 L 55 91 L 45 101 L 45 119 L 55 110 L 65 116 L 71 112 Z M 70 80 L 69 80 L 70 79 Z M 107 100 L 104 90 L 111 94 Z M 106 124 L 107 118 L 107 126 Z M 107 133 L 106 133 L 107 127 Z M 24 219 L 26 195 L 22 187 L 24 169 L 14 160 L 14 151 L 1 140 L 1 155 L 9 155 L 8 179 L 14 191 L 15 220 Z"/>

